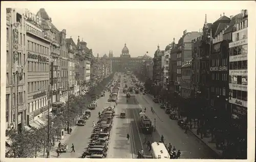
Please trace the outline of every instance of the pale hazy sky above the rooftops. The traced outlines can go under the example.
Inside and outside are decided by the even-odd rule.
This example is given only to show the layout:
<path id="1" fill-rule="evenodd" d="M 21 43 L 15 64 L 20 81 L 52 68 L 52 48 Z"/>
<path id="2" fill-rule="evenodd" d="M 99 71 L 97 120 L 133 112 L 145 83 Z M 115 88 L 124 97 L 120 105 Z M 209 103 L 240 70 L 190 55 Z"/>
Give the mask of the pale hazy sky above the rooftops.
<path id="1" fill-rule="evenodd" d="M 207 22 L 214 22 L 223 13 L 229 17 L 247 9 L 241 8 L 241 2 L 216 1 L 17 2 L 12 7 L 27 8 L 35 14 L 45 8 L 58 30 L 66 29 L 67 38 L 72 36 L 75 42 L 79 35 L 93 49 L 94 56 L 109 54 L 109 50 L 120 56 L 126 43 L 132 57 L 146 51 L 153 57 L 158 44 L 164 50 L 173 38 L 178 42 L 184 30 L 199 31 L 205 14 Z"/>

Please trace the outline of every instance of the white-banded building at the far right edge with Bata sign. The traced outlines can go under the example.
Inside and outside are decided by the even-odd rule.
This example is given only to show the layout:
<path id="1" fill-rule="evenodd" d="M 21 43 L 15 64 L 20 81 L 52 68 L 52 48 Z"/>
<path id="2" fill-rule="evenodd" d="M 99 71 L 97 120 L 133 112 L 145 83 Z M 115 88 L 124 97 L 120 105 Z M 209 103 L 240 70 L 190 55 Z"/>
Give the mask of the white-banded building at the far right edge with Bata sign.
<path id="1" fill-rule="evenodd" d="M 248 11 L 242 10 L 241 19 L 233 26 L 232 42 L 229 43 L 229 98 L 231 106 L 232 141 L 247 138 L 247 41 Z M 239 143 L 238 148 L 246 158 L 246 144 Z M 245 150 L 245 152 L 243 152 Z"/>

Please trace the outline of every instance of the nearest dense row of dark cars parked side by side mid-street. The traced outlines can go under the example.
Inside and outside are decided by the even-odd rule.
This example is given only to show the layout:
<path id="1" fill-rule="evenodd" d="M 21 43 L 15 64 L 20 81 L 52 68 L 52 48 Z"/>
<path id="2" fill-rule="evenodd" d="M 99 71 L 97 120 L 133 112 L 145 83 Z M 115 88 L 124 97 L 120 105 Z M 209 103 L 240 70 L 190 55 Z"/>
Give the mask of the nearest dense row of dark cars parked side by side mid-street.
<path id="1" fill-rule="evenodd" d="M 99 115 L 99 120 L 92 131 L 91 141 L 86 151 L 82 153 L 82 158 L 106 157 L 114 115 L 115 111 L 111 106 L 104 108 L 102 113 Z"/>

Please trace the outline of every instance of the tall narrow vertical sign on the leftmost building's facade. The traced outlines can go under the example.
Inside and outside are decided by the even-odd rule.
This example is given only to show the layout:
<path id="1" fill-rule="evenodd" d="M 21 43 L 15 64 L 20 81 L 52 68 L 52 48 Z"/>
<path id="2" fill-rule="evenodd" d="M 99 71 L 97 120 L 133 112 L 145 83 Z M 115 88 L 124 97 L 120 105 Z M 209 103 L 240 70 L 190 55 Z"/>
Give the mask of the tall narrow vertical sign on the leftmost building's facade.
<path id="1" fill-rule="evenodd" d="M 18 61 L 18 26 L 19 24 L 16 22 L 13 24 L 12 32 L 13 32 L 13 71 L 17 71 L 17 61 Z"/>

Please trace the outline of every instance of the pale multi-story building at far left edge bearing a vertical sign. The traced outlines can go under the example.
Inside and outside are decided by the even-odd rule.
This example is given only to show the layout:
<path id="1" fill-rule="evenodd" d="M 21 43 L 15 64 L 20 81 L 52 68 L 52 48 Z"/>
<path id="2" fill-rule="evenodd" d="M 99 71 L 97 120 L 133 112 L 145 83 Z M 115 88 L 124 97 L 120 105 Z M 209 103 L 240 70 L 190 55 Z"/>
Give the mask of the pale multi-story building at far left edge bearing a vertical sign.
<path id="1" fill-rule="evenodd" d="M 6 12 L 6 128 L 21 131 L 27 127 L 27 28 L 24 11 L 8 8 Z"/>

